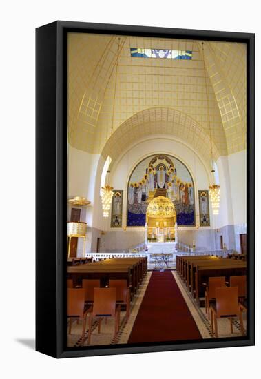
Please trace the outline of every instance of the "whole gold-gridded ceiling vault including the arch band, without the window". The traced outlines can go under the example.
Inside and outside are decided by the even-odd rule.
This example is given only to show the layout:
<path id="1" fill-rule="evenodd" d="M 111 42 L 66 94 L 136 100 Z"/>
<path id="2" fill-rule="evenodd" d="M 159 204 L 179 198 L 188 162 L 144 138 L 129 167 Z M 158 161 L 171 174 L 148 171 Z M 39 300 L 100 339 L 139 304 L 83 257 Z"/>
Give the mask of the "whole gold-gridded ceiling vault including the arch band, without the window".
<path id="1" fill-rule="evenodd" d="M 193 57 L 137 58 L 130 48 L 192 50 Z M 205 41 L 204 57 L 201 41 L 70 33 L 70 145 L 116 156 L 141 135 L 163 133 L 207 161 L 211 145 L 215 159 L 244 150 L 246 47 Z"/>

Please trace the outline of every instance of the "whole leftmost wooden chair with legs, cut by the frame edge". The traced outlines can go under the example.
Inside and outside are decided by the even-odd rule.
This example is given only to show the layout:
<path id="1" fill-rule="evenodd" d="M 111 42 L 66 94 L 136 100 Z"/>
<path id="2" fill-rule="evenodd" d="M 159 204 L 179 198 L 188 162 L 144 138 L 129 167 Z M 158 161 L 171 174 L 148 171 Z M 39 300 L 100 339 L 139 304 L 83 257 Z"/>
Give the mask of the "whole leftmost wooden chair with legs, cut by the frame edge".
<path id="1" fill-rule="evenodd" d="M 79 318 L 83 320 L 83 329 L 81 333 L 81 345 L 83 345 L 87 319 L 87 309 L 85 308 L 85 289 L 67 289 L 67 317 L 69 318 L 69 334 L 71 334 L 72 330 L 72 318 L 77 318 L 77 321 Z"/>

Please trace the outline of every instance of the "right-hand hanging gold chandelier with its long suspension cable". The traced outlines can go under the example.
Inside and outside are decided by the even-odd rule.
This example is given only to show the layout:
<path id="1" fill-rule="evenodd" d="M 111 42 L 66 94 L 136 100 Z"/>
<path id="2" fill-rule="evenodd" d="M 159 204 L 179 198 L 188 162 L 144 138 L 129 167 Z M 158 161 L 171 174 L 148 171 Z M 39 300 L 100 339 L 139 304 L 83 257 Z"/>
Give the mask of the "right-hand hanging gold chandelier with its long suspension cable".
<path id="1" fill-rule="evenodd" d="M 211 129 L 210 129 L 210 121 L 209 121 L 209 96 L 207 93 L 207 78 L 206 78 L 206 70 L 205 70 L 205 56 L 204 56 L 204 42 L 202 42 L 202 55 L 203 55 L 203 64 L 204 64 L 204 74 L 205 74 L 205 85 L 206 85 L 206 96 L 207 96 L 207 121 L 209 124 L 209 139 L 210 139 L 210 148 L 211 148 L 211 165 L 212 170 L 211 174 L 213 175 L 213 184 L 209 185 L 209 197 L 212 205 L 213 214 L 219 214 L 219 204 L 220 204 L 220 185 L 215 183 L 215 169 L 213 164 L 213 147 L 212 147 L 212 139 L 211 139 Z"/>

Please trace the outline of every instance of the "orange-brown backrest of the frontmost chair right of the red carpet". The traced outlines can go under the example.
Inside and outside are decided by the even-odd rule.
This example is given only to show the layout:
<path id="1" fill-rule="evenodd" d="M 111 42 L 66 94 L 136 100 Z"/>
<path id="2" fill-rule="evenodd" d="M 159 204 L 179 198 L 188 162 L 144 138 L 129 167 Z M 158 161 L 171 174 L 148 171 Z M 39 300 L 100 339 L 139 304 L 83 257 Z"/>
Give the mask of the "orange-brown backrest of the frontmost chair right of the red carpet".
<path id="1" fill-rule="evenodd" d="M 238 287 L 216 288 L 217 316 L 235 316 L 239 314 Z"/>

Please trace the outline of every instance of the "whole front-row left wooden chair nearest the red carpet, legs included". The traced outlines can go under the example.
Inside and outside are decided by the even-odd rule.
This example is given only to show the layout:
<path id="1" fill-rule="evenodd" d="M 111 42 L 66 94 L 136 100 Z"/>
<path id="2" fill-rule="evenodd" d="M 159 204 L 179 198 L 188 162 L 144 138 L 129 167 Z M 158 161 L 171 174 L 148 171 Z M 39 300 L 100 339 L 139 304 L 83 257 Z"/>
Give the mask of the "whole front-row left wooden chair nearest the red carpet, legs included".
<path id="1" fill-rule="evenodd" d="M 101 320 L 107 317 L 114 317 L 114 337 L 118 333 L 120 326 L 121 305 L 116 305 L 116 288 L 94 288 L 94 303 L 88 309 L 89 333 L 88 345 L 90 345 L 92 334 L 92 319 L 98 317 L 98 333 L 101 333 Z"/>

